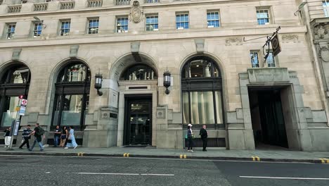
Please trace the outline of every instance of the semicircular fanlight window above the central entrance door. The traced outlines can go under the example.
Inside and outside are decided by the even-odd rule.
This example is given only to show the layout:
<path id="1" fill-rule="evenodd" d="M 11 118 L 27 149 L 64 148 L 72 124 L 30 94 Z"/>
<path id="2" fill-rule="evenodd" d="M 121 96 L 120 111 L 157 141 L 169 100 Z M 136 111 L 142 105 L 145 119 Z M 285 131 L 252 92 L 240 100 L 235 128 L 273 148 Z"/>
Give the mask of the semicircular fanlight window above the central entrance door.
<path id="1" fill-rule="evenodd" d="M 157 80 L 157 74 L 150 66 L 138 64 L 127 68 L 120 80 Z"/>

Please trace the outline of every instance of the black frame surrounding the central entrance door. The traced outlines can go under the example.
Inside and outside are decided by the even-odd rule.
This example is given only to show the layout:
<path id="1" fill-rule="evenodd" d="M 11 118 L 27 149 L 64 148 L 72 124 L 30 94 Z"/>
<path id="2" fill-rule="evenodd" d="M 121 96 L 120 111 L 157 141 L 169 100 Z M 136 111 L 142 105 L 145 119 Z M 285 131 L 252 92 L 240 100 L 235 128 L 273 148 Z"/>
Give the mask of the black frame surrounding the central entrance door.
<path id="1" fill-rule="evenodd" d="M 124 95 L 124 137 L 123 144 L 130 145 L 130 122 L 128 117 L 130 117 L 129 104 L 131 102 L 150 102 L 150 145 L 152 145 L 152 135 L 153 135 L 153 97 L 152 94 L 125 94 Z"/>

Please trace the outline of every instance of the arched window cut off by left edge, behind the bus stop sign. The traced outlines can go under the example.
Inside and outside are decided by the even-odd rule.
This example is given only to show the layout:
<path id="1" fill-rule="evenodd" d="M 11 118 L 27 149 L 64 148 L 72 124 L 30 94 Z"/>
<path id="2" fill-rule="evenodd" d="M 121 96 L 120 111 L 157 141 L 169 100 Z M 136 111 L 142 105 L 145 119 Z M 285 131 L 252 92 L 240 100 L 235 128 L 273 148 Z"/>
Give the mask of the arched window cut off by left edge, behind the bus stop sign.
<path id="1" fill-rule="evenodd" d="M 15 63 L 5 68 L 0 76 L 0 120 L 1 127 L 11 126 L 15 120 L 15 107 L 19 96 L 27 99 L 29 92 L 31 73 L 23 63 Z"/>

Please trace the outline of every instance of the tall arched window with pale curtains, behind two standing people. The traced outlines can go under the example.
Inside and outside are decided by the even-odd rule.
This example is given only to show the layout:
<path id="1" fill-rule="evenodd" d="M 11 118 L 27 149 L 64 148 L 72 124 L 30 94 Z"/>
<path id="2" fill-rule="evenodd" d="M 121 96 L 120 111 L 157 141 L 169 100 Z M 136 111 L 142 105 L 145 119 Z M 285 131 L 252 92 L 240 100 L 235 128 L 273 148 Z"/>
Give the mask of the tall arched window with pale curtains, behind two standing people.
<path id="1" fill-rule="evenodd" d="M 212 58 L 195 56 L 181 72 L 183 123 L 224 128 L 221 72 Z"/>

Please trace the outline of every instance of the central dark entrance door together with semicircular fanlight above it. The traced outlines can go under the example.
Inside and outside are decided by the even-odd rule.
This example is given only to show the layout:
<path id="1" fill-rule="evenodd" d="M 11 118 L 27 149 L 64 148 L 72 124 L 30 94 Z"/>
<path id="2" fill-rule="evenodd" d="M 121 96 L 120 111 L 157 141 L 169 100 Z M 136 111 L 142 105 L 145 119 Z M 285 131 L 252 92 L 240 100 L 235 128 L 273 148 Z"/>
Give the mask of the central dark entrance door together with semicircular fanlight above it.
<path id="1" fill-rule="evenodd" d="M 128 82 L 128 85 L 129 82 L 131 85 L 140 85 L 128 89 L 141 91 L 141 94 L 124 95 L 124 144 L 126 145 L 152 145 L 153 94 L 144 91 L 148 89 L 148 82 L 156 80 L 155 70 L 143 63 L 129 66 L 120 76 L 120 81 Z"/>

